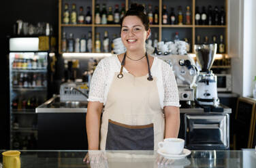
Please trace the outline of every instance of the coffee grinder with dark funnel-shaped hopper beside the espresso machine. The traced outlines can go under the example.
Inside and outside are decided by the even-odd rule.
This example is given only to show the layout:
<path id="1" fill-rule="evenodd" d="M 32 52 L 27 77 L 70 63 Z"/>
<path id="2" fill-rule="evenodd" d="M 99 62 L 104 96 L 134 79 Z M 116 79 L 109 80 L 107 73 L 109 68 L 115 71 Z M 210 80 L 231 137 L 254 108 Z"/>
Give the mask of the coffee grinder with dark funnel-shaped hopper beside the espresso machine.
<path id="1" fill-rule="evenodd" d="M 214 62 L 217 44 L 195 45 L 195 55 L 201 68 L 197 77 L 195 98 L 200 105 L 218 106 L 217 76 L 210 68 Z"/>

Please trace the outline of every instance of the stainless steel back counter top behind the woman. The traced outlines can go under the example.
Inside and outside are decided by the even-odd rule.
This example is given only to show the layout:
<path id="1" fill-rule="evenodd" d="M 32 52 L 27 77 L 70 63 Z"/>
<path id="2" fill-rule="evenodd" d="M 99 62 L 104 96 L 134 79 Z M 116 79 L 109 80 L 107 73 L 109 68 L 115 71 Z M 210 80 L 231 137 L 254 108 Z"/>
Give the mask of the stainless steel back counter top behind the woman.
<path id="1" fill-rule="evenodd" d="M 59 96 L 54 96 L 44 104 L 35 108 L 36 113 L 62 113 L 62 112 L 87 112 L 88 102 L 60 102 Z M 224 108 L 224 113 L 231 113 L 231 108 L 220 105 Z M 203 108 L 180 108 L 180 113 L 206 113 Z M 210 112 L 223 113 L 223 112 Z"/>

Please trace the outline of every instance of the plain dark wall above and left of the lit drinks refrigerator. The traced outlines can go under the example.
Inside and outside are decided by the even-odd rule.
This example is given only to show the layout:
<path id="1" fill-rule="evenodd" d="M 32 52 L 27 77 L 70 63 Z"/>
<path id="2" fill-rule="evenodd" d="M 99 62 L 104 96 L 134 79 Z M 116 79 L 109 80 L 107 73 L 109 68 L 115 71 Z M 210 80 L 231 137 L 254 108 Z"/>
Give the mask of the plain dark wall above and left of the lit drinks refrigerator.
<path id="1" fill-rule="evenodd" d="M 13 25 L 16 20 L 37 24 L 49 22 L 58 35 L 58 0 L 9 0 L 1 3 L 1 31 L 0 31 L 0 149 L 10 148 L 10 113 L 9 113 L 9 79 L 8 79 L 8 41 L 7 35 L 12 35 Z"/>

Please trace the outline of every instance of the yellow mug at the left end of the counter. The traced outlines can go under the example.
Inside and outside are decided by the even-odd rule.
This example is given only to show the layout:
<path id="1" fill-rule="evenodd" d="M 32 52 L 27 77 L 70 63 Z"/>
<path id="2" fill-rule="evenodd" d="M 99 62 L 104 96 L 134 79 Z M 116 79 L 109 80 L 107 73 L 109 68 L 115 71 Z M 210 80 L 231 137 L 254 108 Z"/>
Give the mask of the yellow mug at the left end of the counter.
<path id="1" fill-rule="evenodd" d="M 20 168 L 20 151 L 8 150 L 2 154 L 3 168 Z"/>

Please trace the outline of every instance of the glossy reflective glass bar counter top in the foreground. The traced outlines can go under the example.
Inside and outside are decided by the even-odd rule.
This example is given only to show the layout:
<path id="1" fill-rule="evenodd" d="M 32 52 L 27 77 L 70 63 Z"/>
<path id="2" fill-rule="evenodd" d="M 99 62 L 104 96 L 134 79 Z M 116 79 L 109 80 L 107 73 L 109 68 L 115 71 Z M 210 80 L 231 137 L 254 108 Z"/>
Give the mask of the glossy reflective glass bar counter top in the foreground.
<path id="1" fill-rule="evenodd" d="M 4 152 L 4 150 L 0 150 Z M 87 150 L 20 150 L 21 168 L 30 167 L 256 167 L 256 152 L 246 150 L 191 150 L 184 159 L 172 160 L 169 165 L 157 165 L 157 151 L 123 150 L 93 151 L 98 163 L 84 164 L 83 157 Z M 91 151 L 89 151 L 91 154 Z M 2 163 L 2 157 L 0 159 Z M 1 167 L 1 166 L 0 166 Z"/>

